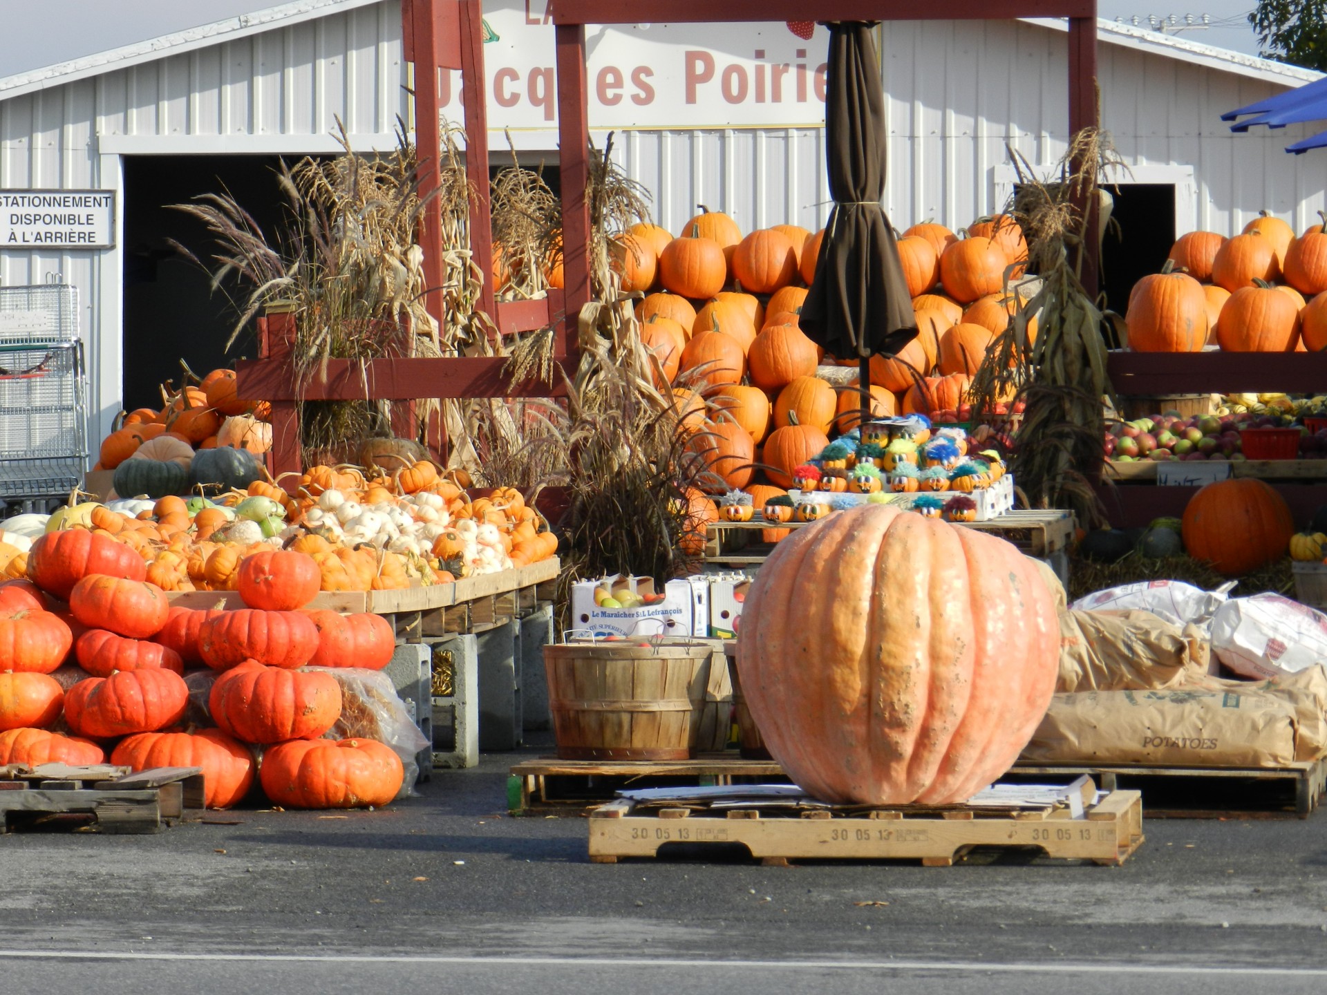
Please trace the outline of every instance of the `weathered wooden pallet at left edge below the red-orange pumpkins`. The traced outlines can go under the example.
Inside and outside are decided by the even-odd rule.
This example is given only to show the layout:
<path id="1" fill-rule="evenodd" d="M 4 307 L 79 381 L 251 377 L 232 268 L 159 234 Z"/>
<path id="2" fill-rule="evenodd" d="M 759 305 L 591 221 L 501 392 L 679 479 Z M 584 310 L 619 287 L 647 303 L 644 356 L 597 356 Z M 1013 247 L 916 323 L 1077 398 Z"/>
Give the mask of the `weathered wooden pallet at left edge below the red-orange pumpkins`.
<path id="1" fill-rule="evenodd" d="M 0 832 L 69 824 L 104 833 L 155 833 L 202 815 L 199 767 L 139 773 L 110 764 L 0 767 Z"/>

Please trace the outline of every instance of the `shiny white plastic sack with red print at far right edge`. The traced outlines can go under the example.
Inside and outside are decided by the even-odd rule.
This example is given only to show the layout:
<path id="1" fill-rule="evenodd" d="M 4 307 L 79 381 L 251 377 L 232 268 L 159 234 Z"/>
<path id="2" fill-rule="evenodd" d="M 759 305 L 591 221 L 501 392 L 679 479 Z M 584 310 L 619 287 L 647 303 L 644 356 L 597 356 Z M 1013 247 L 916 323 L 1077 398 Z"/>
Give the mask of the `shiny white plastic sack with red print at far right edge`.
<path id="1" fill-rule="evenodd" d="M 1231 598 L 1212 620 L 1212 650 L 1245 677 L 1298 674 L 1327 662 L 1327 616 L 1281 594 Z"/>

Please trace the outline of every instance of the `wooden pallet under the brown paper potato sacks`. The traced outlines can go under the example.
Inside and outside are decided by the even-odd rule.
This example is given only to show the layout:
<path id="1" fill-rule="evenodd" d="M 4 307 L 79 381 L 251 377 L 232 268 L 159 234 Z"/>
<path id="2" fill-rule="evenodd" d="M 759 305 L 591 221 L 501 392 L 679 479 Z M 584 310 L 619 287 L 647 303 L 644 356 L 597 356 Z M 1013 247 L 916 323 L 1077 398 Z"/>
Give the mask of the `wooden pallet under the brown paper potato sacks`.
<path id="1" fill-rule="evenodd" d="M 1040 781 L 1046 777 L 1089 775 L 1108 791 L 1123 783 L 1143 789 L 1157 804 L 1147 805 L 1149 819 L 1307 819 L 1327 793 L 1327 759 L 1296 760 L 1285 767 L 1162 767 L 1156 764 L 1019 764 L 1007 776 Z M 1153 792 L 1153 789 L 1156 789 Z M 1206 796 L 1193 805 L 1177 804 L 1185 789 Z M 1233 796 L 1262 807 L 1241 808 Z M 1212 796 L 1225 804 L 1202 804 Z M 1254 797 L 1250 797 L 1254 796 Z"/>

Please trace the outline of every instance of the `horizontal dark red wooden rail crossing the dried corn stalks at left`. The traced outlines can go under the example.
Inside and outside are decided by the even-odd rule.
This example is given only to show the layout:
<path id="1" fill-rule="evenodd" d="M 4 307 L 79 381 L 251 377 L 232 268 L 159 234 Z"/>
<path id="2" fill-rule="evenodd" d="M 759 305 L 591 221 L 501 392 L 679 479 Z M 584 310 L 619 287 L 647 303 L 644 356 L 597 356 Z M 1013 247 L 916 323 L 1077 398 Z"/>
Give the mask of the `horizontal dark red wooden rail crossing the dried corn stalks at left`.
<path id="1" fill-rule="evenodd" d="M 503 375 L 506 357 L 393 357 L 385 360 L 328 360 L 325 377 L 296 390 L 289 365 L 261 360 L 235 364 L 236 389 L 243 397 L 277 403 L 293 401 L 411 401 L 414 398 L 561 397 L 560 373 L 553 385 L 511 383 Z"/>

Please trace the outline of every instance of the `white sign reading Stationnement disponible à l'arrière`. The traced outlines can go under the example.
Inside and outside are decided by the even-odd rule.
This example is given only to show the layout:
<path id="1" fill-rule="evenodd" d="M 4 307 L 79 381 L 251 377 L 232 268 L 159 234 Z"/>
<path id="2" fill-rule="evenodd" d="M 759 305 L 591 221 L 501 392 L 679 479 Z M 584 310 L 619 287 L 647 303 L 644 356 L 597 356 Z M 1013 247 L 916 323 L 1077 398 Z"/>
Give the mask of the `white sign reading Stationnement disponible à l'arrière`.
<path id="1" fill-rule="evenodd" d="M 113 190 L 0 190 L 0 249 L 114 244 Z"/>

